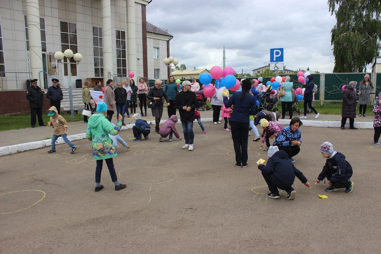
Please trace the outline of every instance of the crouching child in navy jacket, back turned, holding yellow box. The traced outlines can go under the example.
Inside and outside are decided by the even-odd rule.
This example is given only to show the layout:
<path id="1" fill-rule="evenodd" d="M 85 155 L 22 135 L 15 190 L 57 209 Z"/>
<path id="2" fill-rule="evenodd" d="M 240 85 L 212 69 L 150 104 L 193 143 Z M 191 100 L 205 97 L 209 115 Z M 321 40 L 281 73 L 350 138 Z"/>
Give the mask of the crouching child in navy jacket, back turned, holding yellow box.
<path id="1" fill-rule="evenodd" d="M 278 188 L 287 191 L 287 199 L 295 198 L 296 191 L 292 188 L 295 176 L 306 185 L 311 187 L 307 182 L 307 178 L 300 172 L 288 158 L 288 154 L 284 150 L 274 153 L 267 161 L 266 166 L 257 163 L 258 169 L 262 171 L 262 175 L 271 193 L 267 194 L 269 198 L 279 198 Z"/>

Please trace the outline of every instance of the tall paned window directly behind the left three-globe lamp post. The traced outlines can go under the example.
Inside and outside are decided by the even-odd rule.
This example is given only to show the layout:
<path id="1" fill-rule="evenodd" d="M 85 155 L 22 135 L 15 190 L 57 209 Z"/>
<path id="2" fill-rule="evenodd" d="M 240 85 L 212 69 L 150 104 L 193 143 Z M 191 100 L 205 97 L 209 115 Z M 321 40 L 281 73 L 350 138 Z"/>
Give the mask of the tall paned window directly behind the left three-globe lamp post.
<path id="1" fill-rule="evenodd" d="M 70 49 L 74 54 L 78 53 L 77 24 L 59 21 L 59 31 L 61 35 L 61 51 L 64 52 Z M 64 57 L 63 61 L 66 63 L 67 58 Z M 70 63 L 75 63 L 73 58 L 70 58 Z M 77 76 L 77 64 L 70 64 L 70 72 L 72 76 Z M 64 68 L 64 74 L 67 76 L 67 68 Z"/>

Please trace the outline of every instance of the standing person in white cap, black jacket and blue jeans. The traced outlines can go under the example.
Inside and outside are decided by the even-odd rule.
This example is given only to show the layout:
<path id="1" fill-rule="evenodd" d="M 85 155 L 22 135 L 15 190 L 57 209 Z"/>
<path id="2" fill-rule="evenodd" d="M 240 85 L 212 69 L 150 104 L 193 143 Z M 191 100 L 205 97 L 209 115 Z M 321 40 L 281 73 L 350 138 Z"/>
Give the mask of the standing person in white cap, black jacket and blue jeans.
<path id="1" fill-rule="evenodd" d="M 192 83 L 188 80 L 182 82 L 183 90 L 176 94 L 173 106 L 179 110 L 182 129 L 184 129 L 185 145 L 182 149 L 193 150 L 193 121 L 194 110 L 197 107 L 196 94 L 191 91 Z"/>

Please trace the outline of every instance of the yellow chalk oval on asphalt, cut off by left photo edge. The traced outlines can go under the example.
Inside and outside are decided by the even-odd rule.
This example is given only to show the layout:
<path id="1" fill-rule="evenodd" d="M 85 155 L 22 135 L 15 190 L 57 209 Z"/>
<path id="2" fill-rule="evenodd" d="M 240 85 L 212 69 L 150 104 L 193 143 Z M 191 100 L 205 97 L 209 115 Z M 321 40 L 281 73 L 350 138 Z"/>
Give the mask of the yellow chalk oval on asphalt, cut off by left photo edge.
<path id="1" fill-rule="evenodd" d="M 27 203 L 27 201 L 25 201 L 26 199 L 28 199 L 27 195 L 22 195 L 21 197 L 17 197 L 17 194 L 21 194 L 21 193 L 25 193 L 29 191 L 35 192 L 34 195 L 32 195 L 33 198 L 30 198 L 30 199 L 34 199 L 34 201 L 28 202 L 29 204 L 24 204 L 24 202 Z M 32 192 L 29 192 L 29 193 L 32 193 Z M 13 195 L 9 195 L 9 194 L 13 194 Z M 16 196 L 14 194 L 16 194 Z M 43 195 L 42 198 L 41 198 L 41 195 Z M 42 199 L 45 198 L 45 196 L 46 196 L 45 191 L 41 191 L 41 190 L 21 190 L 21 191 L 11 191 L 11 192 L 0 194 L 0 203 L 2 204 L 1 206 L 2 208 L 0 208 L 0 212 L 1 212 L 0 215 L 11 214 L 13 212 L 20 212 L 20 211 L 26 210 L 34 206 L 38 202 L 40 202 Z M 36 202 L 36 200 L 38 201 Z M 17 208 L 17 210 L 3 211 L 3 209 L 8 209 L 8 208 L 12 209 L 13 207 L 17 207 L 17 206 L 19 207 Z"/>

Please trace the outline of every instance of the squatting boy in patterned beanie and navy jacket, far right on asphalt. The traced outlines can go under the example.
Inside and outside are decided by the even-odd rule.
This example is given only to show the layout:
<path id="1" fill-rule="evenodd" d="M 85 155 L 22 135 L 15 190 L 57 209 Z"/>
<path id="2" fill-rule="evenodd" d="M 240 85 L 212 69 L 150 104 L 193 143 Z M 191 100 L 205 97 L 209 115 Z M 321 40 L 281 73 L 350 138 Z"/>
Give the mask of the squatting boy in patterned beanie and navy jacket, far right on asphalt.
<path id="1" fill-rule="evenodd" d="M 327 161 L 315 184 L 327 177 L 330 186 L 325 188 L 325 191 L 337 191 L 339 188 L 345 188 L 346 193 L 351 193 L 353 182 L 349 179 L 353 175 L 353 170 L 344 154 L 333 151 L 333 145 L 330 142 L 324 142 L 320 146 L 320 151 Z"/>

